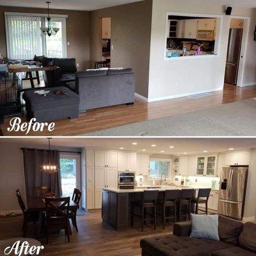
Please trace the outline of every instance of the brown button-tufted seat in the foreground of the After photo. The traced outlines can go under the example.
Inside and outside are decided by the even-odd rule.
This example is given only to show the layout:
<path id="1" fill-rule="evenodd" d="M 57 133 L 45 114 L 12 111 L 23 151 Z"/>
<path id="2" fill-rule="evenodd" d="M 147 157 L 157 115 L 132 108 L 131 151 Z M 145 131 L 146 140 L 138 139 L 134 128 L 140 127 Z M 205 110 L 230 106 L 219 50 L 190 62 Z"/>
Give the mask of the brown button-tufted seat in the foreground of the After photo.
<path id="1" fill-rule="evenodd" d="M 154 256 L 209 256 L 215 250 L 232 247 L 221 241 L 175 235 L 142 239 L 140 244 L 143 251 Z"/>

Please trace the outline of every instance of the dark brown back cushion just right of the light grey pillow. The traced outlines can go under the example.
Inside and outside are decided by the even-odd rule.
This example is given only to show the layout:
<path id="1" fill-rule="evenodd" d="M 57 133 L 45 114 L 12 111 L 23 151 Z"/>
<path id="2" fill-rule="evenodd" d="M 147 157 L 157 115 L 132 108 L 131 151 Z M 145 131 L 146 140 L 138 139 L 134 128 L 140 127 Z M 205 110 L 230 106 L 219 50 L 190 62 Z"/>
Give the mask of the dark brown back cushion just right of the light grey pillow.
<path id="1" fill-rule="evenodd" d="M 238 245 L 238 239 L 243 230 L 241 221 L 233 220 L 224 216 L 219 216 L 219 237 L 220 241 Z"/>

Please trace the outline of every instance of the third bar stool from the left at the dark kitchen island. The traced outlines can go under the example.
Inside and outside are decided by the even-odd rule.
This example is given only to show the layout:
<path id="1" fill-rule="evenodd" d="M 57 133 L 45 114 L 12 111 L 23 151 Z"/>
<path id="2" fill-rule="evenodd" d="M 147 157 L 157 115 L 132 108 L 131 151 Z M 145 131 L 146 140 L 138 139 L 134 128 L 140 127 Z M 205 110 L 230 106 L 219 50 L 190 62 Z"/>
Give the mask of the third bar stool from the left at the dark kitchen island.
<path id="1" fill-rule="evenodd" d="M 179 221 L 182 221 L 182 217 L 185 216 L 185 220 L 188 217 L 189 221 L 191 219 L 191 201 L 195 196 L 195 189 L 182 189 L 180 192 L 180 198 L 177 200 L 179 205 Z M 182 207 L 186 206 L 186 210 Z"/>

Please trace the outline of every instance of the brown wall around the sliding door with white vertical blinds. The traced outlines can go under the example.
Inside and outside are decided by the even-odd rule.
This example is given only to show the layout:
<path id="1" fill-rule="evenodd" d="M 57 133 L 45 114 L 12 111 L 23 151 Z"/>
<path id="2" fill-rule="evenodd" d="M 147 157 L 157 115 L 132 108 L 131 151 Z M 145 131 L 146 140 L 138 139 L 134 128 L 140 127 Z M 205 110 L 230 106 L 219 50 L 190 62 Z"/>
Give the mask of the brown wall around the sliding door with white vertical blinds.
<path id="1" fill-rule="evenodd" d="M 6 36 L 4 12 L 45 13 L 45 9 L 0 6 L 0 53 L 6 57 Z M 79 70 L 89 67 L 90 61 L 90 13 L 69 10 L 51 10 L 54 14 L 68 15 L 67 18 L 67 57 L 76 58 Z"/>

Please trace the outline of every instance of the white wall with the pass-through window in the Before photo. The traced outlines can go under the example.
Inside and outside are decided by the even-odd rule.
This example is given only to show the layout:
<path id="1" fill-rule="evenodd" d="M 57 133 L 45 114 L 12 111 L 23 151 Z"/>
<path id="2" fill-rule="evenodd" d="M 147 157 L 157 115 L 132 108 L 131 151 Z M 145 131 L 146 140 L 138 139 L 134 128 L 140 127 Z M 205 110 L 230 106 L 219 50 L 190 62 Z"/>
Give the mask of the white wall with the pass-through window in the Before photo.
<path id="1" fill-rule="evenodd" d="M 220 56 L 164 61 L 166 12 L 223 15 L 223 6 L 209 1 L 153 0 L 148 100 L 223 88 L 230 17 L 223 15 Z M 255 9 L 238 7 L 232 13 L 252 17 L 245 60 L 246 84 L 256 83 L 256 42 L 253 42 L 255 14 Z"/>

